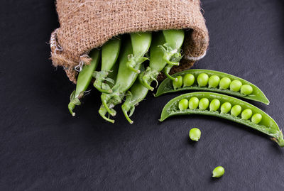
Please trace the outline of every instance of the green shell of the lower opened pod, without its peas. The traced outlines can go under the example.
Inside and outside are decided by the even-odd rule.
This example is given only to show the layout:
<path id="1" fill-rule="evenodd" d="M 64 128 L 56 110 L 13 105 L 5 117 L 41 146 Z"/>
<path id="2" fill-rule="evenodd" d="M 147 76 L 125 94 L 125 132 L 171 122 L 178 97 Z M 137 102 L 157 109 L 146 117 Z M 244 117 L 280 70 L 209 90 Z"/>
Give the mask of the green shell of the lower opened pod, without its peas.
<path id="1" fill-rule="evenodd" d="M 253 117 L 251 120 L 241 119 L 240 114 L 227 114 L 222 113 L 220 109 L 217 109 L 215 111 L 212 111 L 209 109 L 209 107 L 204 107 L 203 109 L 196 108 L 196 109 L 182 109 L 179 108 L 180 100 L 187 99 L 190 100 L 191 98 L 197 98 L 201 102 L 201 99 L 209 100 L 209 102 L 212 102 L 214 99 L 218 99 L 221 104 L 228 103 L 231 104 L 231 106 L 238 106 L 243 111 L 245 109 L 250 109 L 253 114 L 258 114 L 262 116 L 261 121 L 258 120 L 258 124 L 253 123 Z M 198 101 L 197 101 L 198 102 Z M 201 105 L 200 105 L 201 106 Z M 231 109 L 232 112 L 233 108 Z M 278 143 L 279 146 L 284 146 L 284 139 L 283 139 L 283 133 L 280 131 L 278 125 L 275 123 L 275 121 L 271 118 L 271 116 L 268 116 L 264 111 L 261 109 L 258 109 L 257 107 L 254 107 L 252 104 L 249 104 L 247 102 L 244 102 L 240 99 L 236 99 L 234 97 L 229 97 L 224 94 L 217 94 L 212 92 L 194 92 L 194 93 L 188 93 L 188 94 L 182 94 L 178 97 L 175 97 L 174 99 L 171 99 L 168 104 L 165 105 L 163 108 L 162 114 L 160 116 L 160 121 L 164 121 L 170 116 L 175 115 L 188 115 L 188 114 L 202 114 L 202 115 L 209 115 L 209 116 L 217 116 L 223 119 L 228 119 L 230 121 L 234 121 L 239 124 L 244 124 L 245 126 L 249 126 L 253 129 L 256 129 L 258 131 L 261 131 L 262 133 L 266 133 L 266 135 L 271 136 L 273 141 Z"/>

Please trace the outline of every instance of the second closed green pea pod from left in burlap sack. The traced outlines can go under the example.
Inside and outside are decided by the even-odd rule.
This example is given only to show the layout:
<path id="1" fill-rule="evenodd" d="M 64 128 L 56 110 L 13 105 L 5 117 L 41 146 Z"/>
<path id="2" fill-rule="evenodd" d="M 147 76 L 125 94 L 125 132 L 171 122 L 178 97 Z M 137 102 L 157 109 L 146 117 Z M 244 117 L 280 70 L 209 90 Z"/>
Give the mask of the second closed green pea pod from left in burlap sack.
<path id="1" fill-rule="evenodd" d="M 111 73 L 111 68 L 114 67 L 117 58 L 119 57 L 119 50 L 121 47 L 121 40 L 118 38 L 111 39 L 104 45 L 102 45 L 102 69 L 101 71 L 95 71 L 93 77 L 96 79 L 94 81 L 94 87 L 99 90 L 99 92 L 111 93 L 112 90 L 109 84 L 110 82 L 114 84 L 114 80 L 109 77 Z"/>

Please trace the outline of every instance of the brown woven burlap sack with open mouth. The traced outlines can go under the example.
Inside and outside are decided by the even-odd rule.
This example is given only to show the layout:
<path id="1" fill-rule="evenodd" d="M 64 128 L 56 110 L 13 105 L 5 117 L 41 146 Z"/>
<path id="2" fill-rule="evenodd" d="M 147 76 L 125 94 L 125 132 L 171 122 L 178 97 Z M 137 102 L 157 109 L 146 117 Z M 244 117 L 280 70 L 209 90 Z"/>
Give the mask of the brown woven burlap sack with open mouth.
<path id="1" fill-rule="evenodd" d="M 51 59 L 72 82 L 87 54 L 123 33 L 185 28 L 183 61 L 173 72 L 202 58 L 209 43 L 200 0 L 57 0 L 60 28 L 50 38 Z"/>

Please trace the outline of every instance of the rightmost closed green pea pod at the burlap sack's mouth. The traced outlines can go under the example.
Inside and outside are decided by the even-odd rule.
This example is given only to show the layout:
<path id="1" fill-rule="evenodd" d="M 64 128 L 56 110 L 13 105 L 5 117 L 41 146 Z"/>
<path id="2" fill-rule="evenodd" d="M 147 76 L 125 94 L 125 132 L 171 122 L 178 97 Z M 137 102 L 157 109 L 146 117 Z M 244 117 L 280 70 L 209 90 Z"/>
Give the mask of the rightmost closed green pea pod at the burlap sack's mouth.
<path id="1" fill-rule="evenodd" d="M 163 31 L 165 37 L 165 44 L 159 47 L 163 50 L 163 59 L 168 65 L 164 68 L 165 75 L 171 80 L 176 80 L 171 77 L 169 72 L 174 65 L 179 65 L 180 59 L 180 48 L 182 47 L 183 40 L 185 39 L 185 31 L 183 30 L 165 30 Z"/>

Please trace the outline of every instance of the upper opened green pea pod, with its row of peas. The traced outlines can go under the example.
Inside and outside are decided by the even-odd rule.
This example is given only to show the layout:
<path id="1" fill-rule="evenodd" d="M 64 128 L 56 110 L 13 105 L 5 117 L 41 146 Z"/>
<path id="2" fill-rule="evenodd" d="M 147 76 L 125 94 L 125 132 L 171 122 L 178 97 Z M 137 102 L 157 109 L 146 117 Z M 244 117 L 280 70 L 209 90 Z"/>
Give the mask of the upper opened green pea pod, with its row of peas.
<path id="1" fill-rule="evenodd" d="M 266 98 L 266 95 L 263 94 L 261 89 L 256 87 L 256 85 L 224 72 L 191 69 L 175 73 L 173 77 L 176 77 L 178 82 L 165 79 L 160 83 L 160 86 L 155 93 L 155 97 L 170 92 L 199 90 L 219 92 L 269 104 L 269 100 Z"/>

